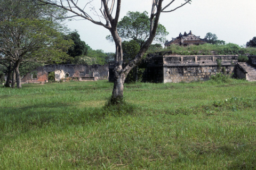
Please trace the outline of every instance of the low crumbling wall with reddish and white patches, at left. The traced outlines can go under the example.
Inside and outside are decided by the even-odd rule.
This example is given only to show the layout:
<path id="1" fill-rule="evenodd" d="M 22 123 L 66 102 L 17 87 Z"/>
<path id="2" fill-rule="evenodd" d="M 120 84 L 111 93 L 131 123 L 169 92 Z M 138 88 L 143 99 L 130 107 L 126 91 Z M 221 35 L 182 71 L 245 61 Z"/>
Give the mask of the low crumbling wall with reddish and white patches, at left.
<path id="1" fill-rule="evenodd" d="M 54 72 L 55 81 L 69 78 L 78 81 L 95 81 L 98 79 L 108 79 L 108 65 L 45 65 L 37 67 L 33 72 L 27 73 L 21 78 L 22 83 L 48 82 L 48 74 Z"/>

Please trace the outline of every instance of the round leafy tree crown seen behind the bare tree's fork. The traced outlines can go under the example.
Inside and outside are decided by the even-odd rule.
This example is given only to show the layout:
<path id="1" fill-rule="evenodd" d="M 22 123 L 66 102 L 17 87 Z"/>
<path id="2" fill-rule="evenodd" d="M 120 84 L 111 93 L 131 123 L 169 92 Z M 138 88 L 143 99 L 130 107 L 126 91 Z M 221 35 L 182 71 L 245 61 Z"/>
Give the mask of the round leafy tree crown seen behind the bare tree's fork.
<path id="1" fill-rule="evenodd" d="M 127 12 L 127 15 L 118 22 L 117 32 L 123 40 L 134 40 L 141 47 L 150 36 L 148 12 Z M 166 40 L 165 37 L 168 34 L 169 32 L 166 31 L 164 25 L 158 24 L 154 41 L 164 43 Z M 106 39 L 114 41 L 110 35 Z"/>

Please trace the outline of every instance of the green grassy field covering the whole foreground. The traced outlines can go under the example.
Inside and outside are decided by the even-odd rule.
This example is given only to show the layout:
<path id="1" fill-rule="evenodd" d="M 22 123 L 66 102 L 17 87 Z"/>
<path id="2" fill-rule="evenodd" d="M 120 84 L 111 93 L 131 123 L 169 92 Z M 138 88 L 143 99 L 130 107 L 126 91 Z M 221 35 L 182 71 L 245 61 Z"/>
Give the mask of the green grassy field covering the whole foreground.
<path id="1" fill-rule="evenodd" d="M 256 169 L 256 82 L 0 88 L 0 169 Z"/>

